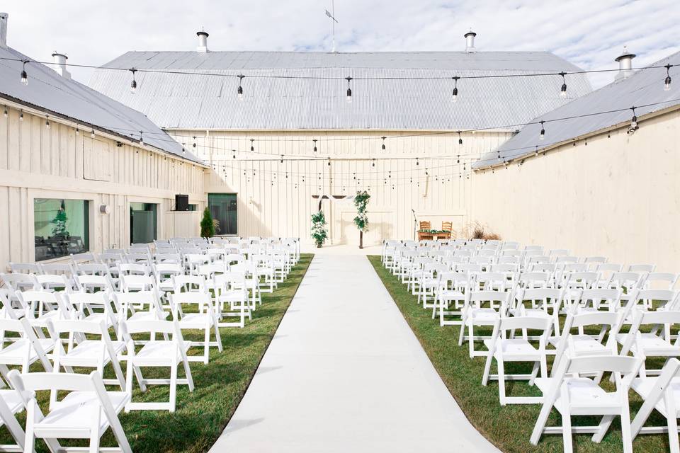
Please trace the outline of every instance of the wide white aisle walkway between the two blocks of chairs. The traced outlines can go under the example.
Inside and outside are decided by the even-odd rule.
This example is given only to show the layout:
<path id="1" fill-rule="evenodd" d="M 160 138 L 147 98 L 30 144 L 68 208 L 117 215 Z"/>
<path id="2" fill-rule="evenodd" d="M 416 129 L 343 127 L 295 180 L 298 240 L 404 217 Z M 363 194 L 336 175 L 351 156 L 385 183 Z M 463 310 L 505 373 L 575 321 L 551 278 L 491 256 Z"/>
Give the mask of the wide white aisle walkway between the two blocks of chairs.
<path id="1" fill-rule="evenodd" d="M 498 450 L 460 411 L 365 256 L 317 255 L 210 452 Z"/>

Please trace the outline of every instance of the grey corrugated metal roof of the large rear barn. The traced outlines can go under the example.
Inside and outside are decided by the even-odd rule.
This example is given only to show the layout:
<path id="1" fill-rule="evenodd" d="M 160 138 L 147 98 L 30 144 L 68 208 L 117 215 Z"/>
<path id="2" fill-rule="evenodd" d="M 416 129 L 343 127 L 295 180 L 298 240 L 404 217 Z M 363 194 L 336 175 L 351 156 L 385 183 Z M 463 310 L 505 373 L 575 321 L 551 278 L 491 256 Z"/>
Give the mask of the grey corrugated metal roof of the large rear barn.
<path id="1" fill-rule="evenodd" d="M 111 69 L 132 67 L 243 72 L 244 99 L 237 98 L 237 78 L 206 74 L 137 72 L 132 94 L 130 72 Z M 461 79 L 456 103 L 451 77 L 578 70 L 549 52 L 127 52 L 94 71 L 89 84 L 166 128 L 514 130 L 506 125 L 569 101 L 558 96 L 560 76 Z M 347 103 L 346 76 L 378 79 L 352 80 Z M 568 75 L 567 84 L 570 96 L 591 91 L 584 74 Z"/>

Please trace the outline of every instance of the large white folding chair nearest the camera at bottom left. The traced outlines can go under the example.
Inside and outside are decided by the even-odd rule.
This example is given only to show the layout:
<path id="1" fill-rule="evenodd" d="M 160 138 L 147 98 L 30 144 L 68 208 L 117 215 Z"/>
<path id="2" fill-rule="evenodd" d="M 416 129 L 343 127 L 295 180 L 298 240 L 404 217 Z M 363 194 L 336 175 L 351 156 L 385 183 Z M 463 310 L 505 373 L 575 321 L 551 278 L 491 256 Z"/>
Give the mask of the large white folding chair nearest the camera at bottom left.
<path id="1" fill-rule="evenodd" d="M 26 440 L 24 451 L 33 452 L 35 439 L 42 439 L 52 452 L 77 451 L 62 447 L 57 439 L 89 439 L 89 451 L 99 452 L 101 436 L 111 428 L 120 451 L 132 453 L 118 413 L 130 401 L 125 391 L 106 391 L 101 374 L 10 372 L 10 380 L 26 406 Z M 52 394 L 66 390 L 61 401 L 50 401 L 50 411 L 44 415 L 35 393 L 49 390 Z M 80 448 L 82 451 L 82 448 Z"/>

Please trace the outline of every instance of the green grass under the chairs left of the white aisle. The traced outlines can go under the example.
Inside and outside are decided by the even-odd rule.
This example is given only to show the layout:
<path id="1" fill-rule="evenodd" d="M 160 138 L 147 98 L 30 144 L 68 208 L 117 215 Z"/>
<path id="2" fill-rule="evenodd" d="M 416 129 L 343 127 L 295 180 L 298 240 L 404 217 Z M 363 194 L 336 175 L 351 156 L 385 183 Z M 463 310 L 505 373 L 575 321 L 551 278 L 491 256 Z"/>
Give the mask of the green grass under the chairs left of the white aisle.
<path id="1" fill-rule="evenodd" d="M 192 362 L 191 372 L 196 389 L 188 391 L 187 386 L 178 386 L 177 405 L 174 413 L 166 411 L 121 412 L 120 423 L 132 450 L 140 453 L 155 452 L 206 452 L 222 433 L 229 418 L 241 401 L 254 376 L 264 352 L 278 328 L 302 277 L 310 265 L 312 255 L 304 254 L 285 282 L 278 285 L 273 294 L 262 294 L 262 305 L 253 312 L 252 321 L 246 320 L 244 328 L 221 328 L 223 352 L 210 348 L 210 363 Z M 186 340 L 203 340 L 203 332 L 184 331 Z M 190 355 L 200 355 L 203 347 L 192 348 Z M 125 362 L 122 362 L 125 372 Z M 33 368 L 31 369 L 33 371 Z M 42 371 L 38 365 L 35 371 Z M 83 370 L 89 372 L 90 370 Z M 145 377 L 169 377 L 169 368 L 144 369 Z M 113 377 L 111 366 L 106 377 Z M 183 377 L 183 371 L 179 372 Z M 110 390 L 118 390 L 108 386 Z M 284 391 L 282 389 L 282 391 Z M 47 392 L 40 392 L 39 403 L 46 411 Z M 43 394 L 44 393 L 44 394 Z M 149 386 L 142 394 L 135 380 L 133 401 L 167 401 L 168 386 Z M 25 413 L 18 420 L 25 427 Z M 0 443 L 13 443 L 5 428 L 2 428 Z M 62 445 L 82 445 L 84 442 L 62 442 Z M 102 445 L 113 447 L 115 440 L 108 430 Z M 38 440 L 38 452 L 47 452 L 47 446 Z"/>

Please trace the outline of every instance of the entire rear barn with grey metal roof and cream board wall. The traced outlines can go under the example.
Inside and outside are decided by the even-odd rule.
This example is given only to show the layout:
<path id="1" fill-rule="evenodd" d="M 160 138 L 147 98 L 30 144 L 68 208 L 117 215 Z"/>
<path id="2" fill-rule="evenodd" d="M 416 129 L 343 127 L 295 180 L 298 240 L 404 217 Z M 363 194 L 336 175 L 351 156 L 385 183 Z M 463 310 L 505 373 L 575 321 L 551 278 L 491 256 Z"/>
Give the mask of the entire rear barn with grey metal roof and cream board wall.
<path id="1" fill-rule="evenodd" d="M 332 201 L 357 190 L 371 195 L 367 245 L 411 237 L 413 212 L 461 229 L 472 220 L 472 161 L 591 91 L 584 74 L 566 76 L 566 98 L 557 75 L 489 78 L 579 68 L 549 52 L 475 52 L 470 34 L 460 52 L 212 52 L 199 38 L 196 52 L 125 53 L 90 86 L 205 160 L 220 234 L 310 241 L 322 199 L 331 243 L 357 243 L 353 205 Z M 137 70 L 135 93 L 125 69 Z M 485 78 L 460 79 L 453 102 L 453 76 Z"/>

